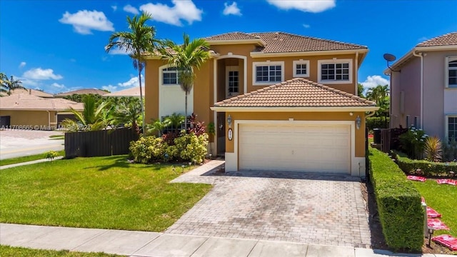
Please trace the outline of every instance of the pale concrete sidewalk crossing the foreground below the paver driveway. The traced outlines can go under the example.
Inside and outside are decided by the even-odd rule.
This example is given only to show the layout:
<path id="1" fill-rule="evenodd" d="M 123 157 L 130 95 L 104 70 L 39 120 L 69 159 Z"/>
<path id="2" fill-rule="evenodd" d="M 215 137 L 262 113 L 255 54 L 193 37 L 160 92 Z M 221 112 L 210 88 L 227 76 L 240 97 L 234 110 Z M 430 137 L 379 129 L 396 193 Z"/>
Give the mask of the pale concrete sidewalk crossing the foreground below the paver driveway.
<path id="1" fill-rule="evenodd" d="M 116 253 L 124 256 L 205 257 L 380 257 L 441 254 L 394 254 L 366 248 L 322 246 L 308 243 L 186 236 L 173 233 L 64 228 L 0 223 L 0 244 L 26 248 Z"/>

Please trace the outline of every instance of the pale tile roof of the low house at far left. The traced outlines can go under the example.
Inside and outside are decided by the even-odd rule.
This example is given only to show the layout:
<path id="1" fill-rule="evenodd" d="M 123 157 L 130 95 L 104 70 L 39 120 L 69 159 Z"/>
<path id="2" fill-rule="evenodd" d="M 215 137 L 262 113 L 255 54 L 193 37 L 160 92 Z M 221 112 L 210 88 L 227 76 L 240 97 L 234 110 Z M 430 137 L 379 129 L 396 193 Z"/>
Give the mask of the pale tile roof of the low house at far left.
<path id="1" fill-rule="evenodd" d="M 2 110 L 43 110 L 66 111 L 70 107 L 78 111 L 84 109 L 83 104 L 60 98 L 41 98 L 31 94 L 4 96 L 0 100 Z"/>

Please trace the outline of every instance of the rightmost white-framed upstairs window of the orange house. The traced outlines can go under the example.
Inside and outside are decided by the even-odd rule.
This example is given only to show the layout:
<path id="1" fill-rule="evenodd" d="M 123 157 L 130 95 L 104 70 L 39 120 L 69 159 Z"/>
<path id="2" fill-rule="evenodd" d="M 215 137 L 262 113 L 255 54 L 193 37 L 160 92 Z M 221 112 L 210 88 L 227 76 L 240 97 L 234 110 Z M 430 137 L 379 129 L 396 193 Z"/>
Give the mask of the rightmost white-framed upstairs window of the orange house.
<path id="1" fill-rule="evenodd" d="M 352 60 L 319 60 L 318 82 L 323 84 L 352 83 Z"/>

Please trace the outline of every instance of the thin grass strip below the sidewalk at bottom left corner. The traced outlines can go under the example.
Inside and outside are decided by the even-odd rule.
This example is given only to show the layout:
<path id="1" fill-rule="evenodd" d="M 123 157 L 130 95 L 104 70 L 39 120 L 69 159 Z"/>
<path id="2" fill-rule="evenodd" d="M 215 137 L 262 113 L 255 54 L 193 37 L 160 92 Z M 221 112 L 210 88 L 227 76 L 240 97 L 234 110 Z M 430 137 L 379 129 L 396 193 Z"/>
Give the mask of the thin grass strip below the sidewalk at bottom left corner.
<path id="1" fill-rule="evenodd" d="M 22 247 L 0 246 L 1 257 L 115 257 L 107 253 L 81 253 L 70 251 L 36 250 Z"/>

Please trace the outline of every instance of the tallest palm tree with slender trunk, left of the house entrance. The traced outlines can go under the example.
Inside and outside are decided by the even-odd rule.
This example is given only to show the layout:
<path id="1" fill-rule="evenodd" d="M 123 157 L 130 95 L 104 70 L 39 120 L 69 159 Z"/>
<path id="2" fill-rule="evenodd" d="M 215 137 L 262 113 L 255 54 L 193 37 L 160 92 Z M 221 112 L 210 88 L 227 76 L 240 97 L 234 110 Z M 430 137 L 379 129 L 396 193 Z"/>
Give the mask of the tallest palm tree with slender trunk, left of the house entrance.
<path id="1" fill-rule="evenodd" d="M 109 37 L 109 44 L 105 46 L 106 52 L 111 49 L 120 49 L 126 51 L 134 60 L 134 68 L 138 70 L 138 80 L 140 87 L 140 106 L 141 116 L 144 121 L 144 104 L 143 104 L 143 91 L 141 89 L 141 71 L 144 68 L 144 56 L 147 53 L 152 53 L 156 49 L 155 39 L 156 29 L 153 26 L 146 25 L 146 21 L 152 19 L 151 14 L 147 12 L 141 13 L 140 16 L 135 15 L 132 19 L 127 17 L 127 24 L 131 31 L 114 32 Z M 145 124 L 143 123 L 143 131 Z"/>

